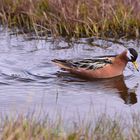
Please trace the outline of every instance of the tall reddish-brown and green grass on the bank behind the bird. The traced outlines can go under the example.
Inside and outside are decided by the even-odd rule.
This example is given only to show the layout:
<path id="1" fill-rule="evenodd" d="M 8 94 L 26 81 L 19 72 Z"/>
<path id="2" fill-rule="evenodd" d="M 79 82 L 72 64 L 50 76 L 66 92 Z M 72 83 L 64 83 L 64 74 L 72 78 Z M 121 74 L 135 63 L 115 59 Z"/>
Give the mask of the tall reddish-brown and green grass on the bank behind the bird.
<path id="1" fill-rule="evenodd" d="M 139 0 L 0 0 L 0 21 L 24 33 L 139 37 Z"/>

